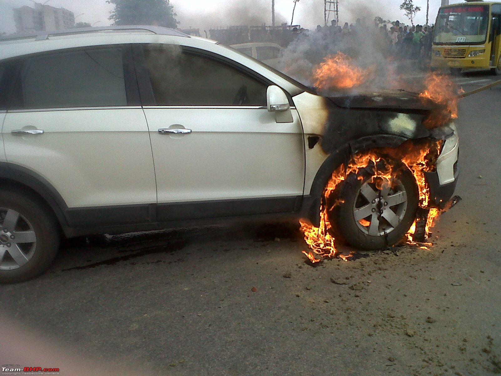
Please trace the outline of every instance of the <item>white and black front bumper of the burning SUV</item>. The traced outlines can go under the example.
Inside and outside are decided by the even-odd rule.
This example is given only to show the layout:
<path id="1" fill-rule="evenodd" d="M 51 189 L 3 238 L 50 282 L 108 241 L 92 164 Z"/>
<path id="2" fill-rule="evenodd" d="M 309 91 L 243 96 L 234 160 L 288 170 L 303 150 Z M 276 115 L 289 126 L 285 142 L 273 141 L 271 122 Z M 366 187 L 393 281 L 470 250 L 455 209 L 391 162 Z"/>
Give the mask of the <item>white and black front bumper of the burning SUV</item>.
<path id="1" fill-rule="evenodd" d="M 430 189 L 431 204 L 440 209 L 443 209 L 452 198 L 459 175 L 457 166 L 459 153 L 457 128 L 454 124 L 449 124 L 448 127 L 453 130 L 453 133 L 447 135 L 445 138 L 442 150 L 437 158 L 436 170 L 425 172 L 426 181 Z"/>

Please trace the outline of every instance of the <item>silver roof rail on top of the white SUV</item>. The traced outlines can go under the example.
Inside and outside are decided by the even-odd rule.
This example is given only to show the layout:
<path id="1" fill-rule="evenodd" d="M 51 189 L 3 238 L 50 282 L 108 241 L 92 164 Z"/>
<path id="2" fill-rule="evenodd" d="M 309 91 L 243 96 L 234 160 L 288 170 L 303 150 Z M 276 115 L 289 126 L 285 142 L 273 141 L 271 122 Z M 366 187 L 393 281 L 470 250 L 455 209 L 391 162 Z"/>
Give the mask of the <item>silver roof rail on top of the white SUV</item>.
<path id="1" fill-rule="evenodd" d="M 18 39 L 29 39 L 35 38 L 36 41 L 45 41 L 51 36 L 62 36 L 62 35 L 77 35 L 77 34 L 87 34 L 100 31 L 137 31 L 144 30 L 149 31 L 157 35 L 172 35 L 176 37 L 190 37 L 187 34 L 181 33 L 174 29 L 164 28 L 161 26 L 148 26 L 148 25 L 133 25 L 133 26 L 103 26 L 98 28 L 79 28 L 79 29 L 67 29 L 67 30 L 56 30 L 56 31 L 40 31 L 37 33 L 25 33 L 25 34 L 12 34 L 0 37 L 0 42 L 2 41 L 15 41 Z"/>

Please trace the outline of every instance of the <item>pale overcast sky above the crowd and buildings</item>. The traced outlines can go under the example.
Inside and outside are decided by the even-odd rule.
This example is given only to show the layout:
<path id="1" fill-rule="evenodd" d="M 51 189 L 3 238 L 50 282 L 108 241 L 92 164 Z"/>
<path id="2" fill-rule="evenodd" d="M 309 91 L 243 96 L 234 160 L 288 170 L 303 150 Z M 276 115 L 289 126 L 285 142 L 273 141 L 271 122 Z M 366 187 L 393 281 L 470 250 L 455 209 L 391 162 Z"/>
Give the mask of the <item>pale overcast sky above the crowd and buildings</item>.
<path id="1" fill-rule="evenodd" d="M 43 2 L 45 0 L 39 0 Z M 291 22 L 293 0 L 275 0 L 278 21 Z M 365 16 L 368 20 L 374 16 L 383 19 L 399 20 L 409 23 L 398 9 L 402 0 L 340 0 L 340 22 L 354 22 L 357 17 Z M 415 0 L 421 7 L 416 23 L 424 24 L 426 19 L 426 0 Z M 463 3 L 450 0 L 450 3 Z M 90 22 L 95 26 L 110 25 L 108 20 L 112 7 L 106 0 L 49 0 L 48 5 L 63 7 L 72 11 L 76 21 Z M 171 0 L 180 28 L 217 28 L 228 25 L 271 24 L 271 0 Z M 0 0 L 0 32 L 16 31 L 12 9 L 33 5 L 30 0 Z M 434 22 L 440 0 L 430 0 L 430 23 Z M 323 24 L 324 1 L 300 0 L 294 16 L 295 24 L 313 29 Z"/>

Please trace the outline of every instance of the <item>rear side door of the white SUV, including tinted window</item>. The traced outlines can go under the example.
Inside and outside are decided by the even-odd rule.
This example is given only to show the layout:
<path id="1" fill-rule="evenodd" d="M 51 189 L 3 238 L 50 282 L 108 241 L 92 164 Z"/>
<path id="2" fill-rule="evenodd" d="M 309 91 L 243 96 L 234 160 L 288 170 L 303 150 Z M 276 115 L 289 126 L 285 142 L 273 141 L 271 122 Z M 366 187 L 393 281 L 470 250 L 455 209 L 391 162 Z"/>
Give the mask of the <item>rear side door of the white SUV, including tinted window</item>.
<path id="1" fill-rule="evenodd" d="M 7 161 L 54 187 L 70 226 L 145 221 L 156 185 L 130 47 L 53 51 L 19 65 Z"/>

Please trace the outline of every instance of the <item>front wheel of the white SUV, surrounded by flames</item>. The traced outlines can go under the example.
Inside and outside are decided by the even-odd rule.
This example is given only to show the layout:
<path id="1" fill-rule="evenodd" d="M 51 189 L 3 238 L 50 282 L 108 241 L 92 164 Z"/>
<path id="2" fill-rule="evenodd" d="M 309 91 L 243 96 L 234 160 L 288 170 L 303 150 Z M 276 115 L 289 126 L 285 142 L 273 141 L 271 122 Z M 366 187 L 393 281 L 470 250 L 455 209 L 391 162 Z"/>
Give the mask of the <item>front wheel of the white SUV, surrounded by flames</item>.
<path id="1" fill-rule="evenodd" d="M 381 249 L 398 243 L 411 227 L 419 203 L 416 180 L 402 163 L 388 162 L 394 171 L 391 189 L 378 190 L 370 181 L 375 168 L 368 166 L 350 173 L 327 198 L 330 231 L 337 240 L 358 249 Z"/>

